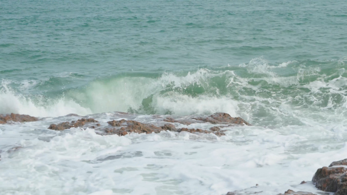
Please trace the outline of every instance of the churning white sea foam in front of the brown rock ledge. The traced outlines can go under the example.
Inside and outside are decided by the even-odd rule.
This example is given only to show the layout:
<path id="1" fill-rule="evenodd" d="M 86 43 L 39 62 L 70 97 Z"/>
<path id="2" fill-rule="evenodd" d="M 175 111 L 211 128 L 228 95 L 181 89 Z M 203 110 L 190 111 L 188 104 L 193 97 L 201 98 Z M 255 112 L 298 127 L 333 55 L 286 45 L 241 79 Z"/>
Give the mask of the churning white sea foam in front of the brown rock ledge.
<path id="1" fill-rule="evenodd" d="M 347 134 L 321 124 L 226 127 L 222 137 L 186 132 L 119 137 L 93 129 L 45 130 L 55 120 L 0 125 L 0 139 L 19 147 L 2 153 L 0 194 L 226 194 L 255 184 L 264 190 L 260 194 L 288 188 L 317 192 L 312 184 L 298 184 L 347 155 Z M 14 132 L 31 137 L 13 138 Z"/>

